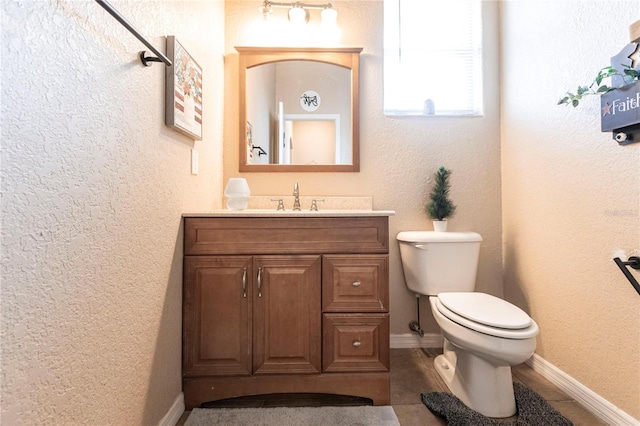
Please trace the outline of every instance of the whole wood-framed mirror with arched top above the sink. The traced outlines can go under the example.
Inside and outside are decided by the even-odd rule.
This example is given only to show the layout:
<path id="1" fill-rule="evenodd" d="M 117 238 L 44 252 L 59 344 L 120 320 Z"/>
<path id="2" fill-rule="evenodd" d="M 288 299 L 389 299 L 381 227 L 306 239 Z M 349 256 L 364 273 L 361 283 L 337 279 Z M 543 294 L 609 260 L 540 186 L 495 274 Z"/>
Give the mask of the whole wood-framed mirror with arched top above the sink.
<path id="1" fill-rule="evenodd" d="M 360 171 L 362 48 L 236 50 L 241 172 Z"/>

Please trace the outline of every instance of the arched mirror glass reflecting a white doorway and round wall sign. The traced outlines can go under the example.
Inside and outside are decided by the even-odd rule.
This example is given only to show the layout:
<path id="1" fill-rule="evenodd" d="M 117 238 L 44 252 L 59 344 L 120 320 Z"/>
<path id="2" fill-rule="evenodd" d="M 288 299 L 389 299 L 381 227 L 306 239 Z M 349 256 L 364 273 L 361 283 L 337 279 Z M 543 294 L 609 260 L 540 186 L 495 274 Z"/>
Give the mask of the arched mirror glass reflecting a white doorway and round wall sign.
<path id="1" fill-rule="evenodd" d="M 352 163 L 351 70 L 323 62 L 273 62 L 248 69 L 246 84 L 251 143 L 270 147 L 266 155 L 249 153 L 248 164 Z M 334 154 L 327 157 L 328 152 Z"/>

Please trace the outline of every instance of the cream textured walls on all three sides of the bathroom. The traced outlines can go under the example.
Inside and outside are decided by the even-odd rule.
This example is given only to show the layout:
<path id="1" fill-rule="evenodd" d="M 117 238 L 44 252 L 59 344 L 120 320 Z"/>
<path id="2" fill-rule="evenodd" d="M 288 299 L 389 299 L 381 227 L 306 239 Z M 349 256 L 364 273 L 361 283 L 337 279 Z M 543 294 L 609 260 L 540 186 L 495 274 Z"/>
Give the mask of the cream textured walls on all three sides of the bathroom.
<path id="1" fill-rule="evenodd" d="M 3 424 L 162 418 L 181 389 L 180 215 L 220 208 L 239 175 L 233 46 L 251 44 L 244 23 L 260 2 L 229 1 L 224 19 L 216 0 L 113 4 L 155 45 L 176 35 L 203 67 L 205 136 L 163 125 L 163 66 L 142 67 L 144 47 L 95 2 L 1 3 Z M 393 237 L 430 228 L 430 176 L 451 168 L 450 226 L 485 237 L 478 288 L 502 294 L 504 215 L 504 293 L 539 322 L 538 353 L 640 418 L 640 297 L 611 261 L 640 246 L 640 144 L 599 132 L 596 99 L 555 105 L 627 43 L 637 2 L 503 2 L 502 70 L 497 3 L 485 3 L 486 116 L 460 119 L 384 117 L 382 1 L 334 5 L 341 43 L 364 47 L 362 171 L 246 173 L 252 192 L 299 181 L 303 195 L 372 195 L 396 210 L 397 334 L 415 301 Z"/>

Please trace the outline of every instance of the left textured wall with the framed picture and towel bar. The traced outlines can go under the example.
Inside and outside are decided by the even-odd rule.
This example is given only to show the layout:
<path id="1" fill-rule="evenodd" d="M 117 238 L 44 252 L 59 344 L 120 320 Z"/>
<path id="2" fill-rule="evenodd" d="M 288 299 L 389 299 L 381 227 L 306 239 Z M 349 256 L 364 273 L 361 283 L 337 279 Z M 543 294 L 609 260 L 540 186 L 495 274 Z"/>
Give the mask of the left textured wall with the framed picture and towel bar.
<path id="1" fill-rule="evenodd" d="M 157 424 L 181 392 L 181 213 L 220 207 L 224 8 L 112 4 L 203 67 L 205 136 L 164 126 L 164 65 L 94 1 L 0 2 L 2 424 Z"/>

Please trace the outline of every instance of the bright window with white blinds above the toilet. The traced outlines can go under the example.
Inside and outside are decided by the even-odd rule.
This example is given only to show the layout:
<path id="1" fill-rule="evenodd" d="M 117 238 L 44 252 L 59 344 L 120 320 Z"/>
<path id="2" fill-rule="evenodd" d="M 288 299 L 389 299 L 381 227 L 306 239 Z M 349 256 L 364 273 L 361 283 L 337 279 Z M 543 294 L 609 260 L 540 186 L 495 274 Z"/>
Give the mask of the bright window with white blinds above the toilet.
<path id="1" fill-rule="evenodd" d="M 384 1 L 384 113 L 482 115 L 481 0 Z"/>

